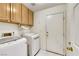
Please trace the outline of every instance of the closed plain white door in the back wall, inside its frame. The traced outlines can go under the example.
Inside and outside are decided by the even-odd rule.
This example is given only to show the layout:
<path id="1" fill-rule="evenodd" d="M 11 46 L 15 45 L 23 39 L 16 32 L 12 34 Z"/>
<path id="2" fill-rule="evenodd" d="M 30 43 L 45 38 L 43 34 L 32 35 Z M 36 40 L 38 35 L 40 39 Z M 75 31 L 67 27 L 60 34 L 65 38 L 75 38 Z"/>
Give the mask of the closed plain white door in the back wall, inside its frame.
<path id="1" fill-rule="evenodd" d="M 63 13 L 57 13 L 47 16 L 47 50 L 58 54 L 63 52 Z"/>

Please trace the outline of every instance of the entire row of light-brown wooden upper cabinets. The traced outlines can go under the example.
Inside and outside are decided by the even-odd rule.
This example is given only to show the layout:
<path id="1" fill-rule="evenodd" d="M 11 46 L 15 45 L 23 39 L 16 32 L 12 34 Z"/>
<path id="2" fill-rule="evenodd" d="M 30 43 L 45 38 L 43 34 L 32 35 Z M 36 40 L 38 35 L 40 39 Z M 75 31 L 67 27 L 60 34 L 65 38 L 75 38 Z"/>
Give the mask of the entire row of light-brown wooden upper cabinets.
<path id="1" fill-rule="evenodd" d="M 33 12 L 24 4 L 0 3 L 0 21 L 33 25 Z"/>

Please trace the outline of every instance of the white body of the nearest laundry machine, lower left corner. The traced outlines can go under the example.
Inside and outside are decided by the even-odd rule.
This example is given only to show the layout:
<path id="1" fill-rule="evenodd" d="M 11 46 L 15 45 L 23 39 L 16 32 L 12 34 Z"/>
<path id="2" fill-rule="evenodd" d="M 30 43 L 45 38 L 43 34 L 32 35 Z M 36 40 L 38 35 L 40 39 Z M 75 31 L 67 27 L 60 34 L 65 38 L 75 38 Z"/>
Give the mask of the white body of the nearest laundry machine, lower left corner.
<path id="1" fill-rule="evenodd" d="M 27 56 L 26 38 L 0 44 L 1 56 Z"/>

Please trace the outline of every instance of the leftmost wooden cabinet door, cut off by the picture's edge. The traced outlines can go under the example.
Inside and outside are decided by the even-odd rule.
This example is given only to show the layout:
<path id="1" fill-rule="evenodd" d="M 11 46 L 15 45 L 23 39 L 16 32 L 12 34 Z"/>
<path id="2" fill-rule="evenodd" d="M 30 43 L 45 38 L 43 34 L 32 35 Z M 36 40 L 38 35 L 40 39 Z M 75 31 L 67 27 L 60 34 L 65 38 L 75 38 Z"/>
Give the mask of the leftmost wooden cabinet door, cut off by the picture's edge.
<path id="1" fill-rule="evenodd" d="M 0 3 L 0 21 L 10 21 L 10 4 Z"/>

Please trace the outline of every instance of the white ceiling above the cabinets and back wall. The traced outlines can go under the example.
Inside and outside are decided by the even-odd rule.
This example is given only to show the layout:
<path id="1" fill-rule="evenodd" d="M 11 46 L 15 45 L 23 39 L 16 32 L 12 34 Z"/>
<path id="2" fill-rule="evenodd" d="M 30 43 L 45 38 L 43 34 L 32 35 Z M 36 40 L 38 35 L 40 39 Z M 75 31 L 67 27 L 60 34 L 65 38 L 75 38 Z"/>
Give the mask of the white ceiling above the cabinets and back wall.
<path id="1" fill-rule="evenodd" d="M 29 9 L 31 9 L 34 12 L 61 4 L 64 3 L 24 3 L 25 6 L 27 6 Z"/>

